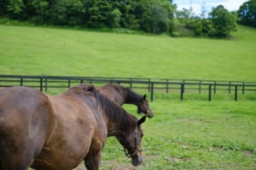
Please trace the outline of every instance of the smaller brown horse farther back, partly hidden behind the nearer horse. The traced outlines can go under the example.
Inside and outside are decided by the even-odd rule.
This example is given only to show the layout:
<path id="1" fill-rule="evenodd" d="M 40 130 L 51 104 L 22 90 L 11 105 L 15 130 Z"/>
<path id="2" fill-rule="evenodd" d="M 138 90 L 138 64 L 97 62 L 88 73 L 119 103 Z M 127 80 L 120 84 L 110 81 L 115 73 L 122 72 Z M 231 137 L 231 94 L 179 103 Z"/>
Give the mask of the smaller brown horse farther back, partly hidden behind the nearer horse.
<path id="1" fill-rule="evenodd" d="M 137 105 L 137 113 L 144 113 L 149 118 L 153 117 L 153 111 L 151 111 L 146 94 L 141 96 L 130 88 L 125 88 L 119 84 L 108 83 L 97 90 L 106 95 L 109 99 L 115 101 L 119 105 L 133 104 Z"/>

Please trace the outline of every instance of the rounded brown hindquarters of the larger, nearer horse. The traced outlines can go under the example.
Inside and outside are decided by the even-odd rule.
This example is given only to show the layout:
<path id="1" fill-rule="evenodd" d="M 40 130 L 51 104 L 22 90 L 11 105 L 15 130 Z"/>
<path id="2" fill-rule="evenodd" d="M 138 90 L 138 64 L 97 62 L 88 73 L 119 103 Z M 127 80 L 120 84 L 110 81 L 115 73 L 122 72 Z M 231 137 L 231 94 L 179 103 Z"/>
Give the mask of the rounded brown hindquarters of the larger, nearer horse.
<path id="1" fill-rule="evenodd" d="M 0 92 L 0 169 L 26 169 L 41 151 L 52 123 L 48 98 L 33 88 Z"/>

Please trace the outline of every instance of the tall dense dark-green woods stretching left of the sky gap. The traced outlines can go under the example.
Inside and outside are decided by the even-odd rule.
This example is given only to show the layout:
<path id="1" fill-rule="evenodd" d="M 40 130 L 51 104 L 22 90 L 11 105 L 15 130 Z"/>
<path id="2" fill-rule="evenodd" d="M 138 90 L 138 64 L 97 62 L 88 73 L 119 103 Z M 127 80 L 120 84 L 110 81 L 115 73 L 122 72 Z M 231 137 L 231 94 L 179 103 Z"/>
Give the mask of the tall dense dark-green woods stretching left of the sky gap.
<path id="1" fill-rule="evenodd" d="M 0 4 L 0 15 L 55 26 L 123 27 L 160 33 L 169 31 L 173 18 L 172 1 L 167 0 L 2 0 Z"/>

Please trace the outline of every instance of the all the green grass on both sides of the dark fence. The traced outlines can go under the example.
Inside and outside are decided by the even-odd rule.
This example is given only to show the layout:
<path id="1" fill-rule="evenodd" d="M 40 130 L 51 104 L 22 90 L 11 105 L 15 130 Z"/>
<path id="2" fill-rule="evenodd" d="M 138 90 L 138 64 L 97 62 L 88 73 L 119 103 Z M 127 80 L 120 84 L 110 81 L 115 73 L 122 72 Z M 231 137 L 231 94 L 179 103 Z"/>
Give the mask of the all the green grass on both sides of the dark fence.
<path id="1" fill-rule="evenodd" d="M 216 40 L 0 25 L 0 73 L 255 81 L 255 42 L 256 30 L 243 26 Z M 163 96 L 150 105 L 143 165 L 132 167 L 109 138 L 102 170 L 255 169 L 255 101 Z"/>

